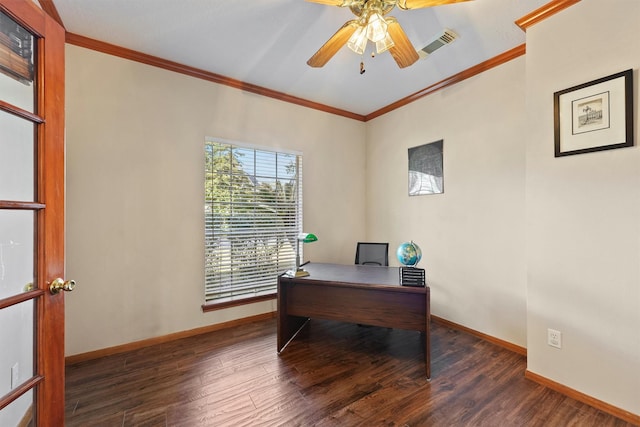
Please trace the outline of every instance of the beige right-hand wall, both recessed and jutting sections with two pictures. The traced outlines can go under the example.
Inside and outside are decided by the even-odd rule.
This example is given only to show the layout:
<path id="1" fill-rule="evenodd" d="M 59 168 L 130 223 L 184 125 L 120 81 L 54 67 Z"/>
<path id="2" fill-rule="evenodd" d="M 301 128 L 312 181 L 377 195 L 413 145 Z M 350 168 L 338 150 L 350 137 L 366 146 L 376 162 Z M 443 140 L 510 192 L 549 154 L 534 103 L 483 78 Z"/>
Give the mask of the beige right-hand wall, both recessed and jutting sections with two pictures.
<path id="1" fill-rule="evenodd" d="M 533 26 L 526 57 L 368 123 L 366 169 L 367 234 L 422 247 L 433 314 L 636 414 L 640 154 L 554 158 L 553 92 L 633 68 L 637 129 L 638 16 L 635 0 L 583 0 Z M 444 194 L 407 196 L 407 149 L 439 139 Z"/>

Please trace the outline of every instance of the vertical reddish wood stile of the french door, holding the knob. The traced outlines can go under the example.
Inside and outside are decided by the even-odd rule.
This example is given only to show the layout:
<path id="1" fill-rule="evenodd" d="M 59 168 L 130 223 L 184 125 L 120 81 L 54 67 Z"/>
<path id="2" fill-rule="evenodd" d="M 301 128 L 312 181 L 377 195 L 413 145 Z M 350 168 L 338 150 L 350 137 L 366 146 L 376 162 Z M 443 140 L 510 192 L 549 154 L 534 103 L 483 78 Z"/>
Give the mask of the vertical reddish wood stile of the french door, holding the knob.
<path id="1" fill-rule="evenodd" d="M 64 292 L 53 295 L 49 283 L 64 278 L 64 51 L 65 31 L 56 21 L 45 16 L 45 47 L 38 49 L 41 66 L 38 111 L 45 123 L 38 132 L 38 200 L 45 209 L 38 212 L 38 227 L 42 233 L 38 247 L 38 272 L 44 296 L 38 303 L 37 346 L 47 351 L 37 352 L 37 364 L 44 375 L 35 400 L 38 425 L 64 425 Z M 42 44 L 42 40 L 39 43 Z M 46 175 L 46 178 L 45 178 Z"/>

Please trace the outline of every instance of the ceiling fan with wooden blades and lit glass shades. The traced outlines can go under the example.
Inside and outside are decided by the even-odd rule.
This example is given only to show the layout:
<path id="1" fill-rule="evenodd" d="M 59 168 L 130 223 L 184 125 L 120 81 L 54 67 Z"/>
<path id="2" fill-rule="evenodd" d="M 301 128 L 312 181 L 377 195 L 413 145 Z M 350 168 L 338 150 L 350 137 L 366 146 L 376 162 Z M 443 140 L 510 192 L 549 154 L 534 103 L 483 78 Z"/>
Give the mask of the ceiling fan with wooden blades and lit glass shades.
<path id="1" fill-rule="evenodd" d="M 400 9 L 421 9 L 469 0 L 307 0 L 329 6 L 348 7 L 356 19 L 347 21 L 307 61 L 311 67 L 322 67 L 340 48 L 347 46 L 357 54 L 364 53 L 368 41 L 376 44 L 378 53 L 389 51 L 398 67 L 405 68 L 419 59 L 404 30 L 393 16 L 387 16 L 398 6 Z"/>

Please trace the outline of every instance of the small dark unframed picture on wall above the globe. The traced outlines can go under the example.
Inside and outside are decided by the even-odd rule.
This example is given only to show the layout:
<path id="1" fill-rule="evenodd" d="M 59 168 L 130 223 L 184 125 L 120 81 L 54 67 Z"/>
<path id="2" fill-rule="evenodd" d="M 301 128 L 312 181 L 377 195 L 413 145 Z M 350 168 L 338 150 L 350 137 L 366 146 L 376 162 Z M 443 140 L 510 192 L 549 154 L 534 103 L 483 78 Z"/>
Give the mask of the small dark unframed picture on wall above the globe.
<path id="1" fill-rule="evenodd" d="M 409 148 L 409 195 L 444 192 L 443 141 Z"/>

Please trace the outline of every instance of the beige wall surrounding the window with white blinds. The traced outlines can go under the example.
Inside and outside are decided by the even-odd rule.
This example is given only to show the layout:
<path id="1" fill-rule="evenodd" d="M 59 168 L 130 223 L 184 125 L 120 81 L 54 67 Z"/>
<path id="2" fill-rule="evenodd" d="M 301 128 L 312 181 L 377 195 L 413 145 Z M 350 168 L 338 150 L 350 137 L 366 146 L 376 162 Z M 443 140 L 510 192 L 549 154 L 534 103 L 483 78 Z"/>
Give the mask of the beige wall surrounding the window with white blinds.
<path id="1" fill-rule="evenodd" d="M 352 262 L 364 123 L 67 46 L 67 355 L 275 310 L 202 313 L 206 137 L 297 150 L 305 258 Z"/>

